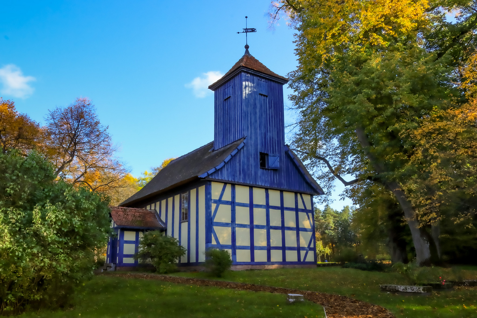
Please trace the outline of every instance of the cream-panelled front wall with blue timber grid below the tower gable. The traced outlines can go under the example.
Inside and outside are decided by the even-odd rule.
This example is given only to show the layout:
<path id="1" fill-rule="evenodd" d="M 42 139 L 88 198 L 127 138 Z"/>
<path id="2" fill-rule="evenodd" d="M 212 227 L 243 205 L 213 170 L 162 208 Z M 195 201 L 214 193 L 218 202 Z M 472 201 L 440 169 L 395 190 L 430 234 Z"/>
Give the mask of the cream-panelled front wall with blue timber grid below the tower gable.
<path id="1" fill-rule="evenodd" d="M 211 199 L 211 247 L 234 264 L 314 264 L 311 195 L 212 182 Z"/>

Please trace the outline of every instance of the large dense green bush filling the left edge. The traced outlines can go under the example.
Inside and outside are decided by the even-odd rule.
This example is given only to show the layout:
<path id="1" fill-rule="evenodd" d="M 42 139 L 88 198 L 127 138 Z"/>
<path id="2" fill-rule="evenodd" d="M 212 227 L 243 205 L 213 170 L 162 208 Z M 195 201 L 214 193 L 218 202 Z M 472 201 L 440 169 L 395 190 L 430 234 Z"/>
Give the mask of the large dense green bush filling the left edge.
<path id="1" fill-rule="evenodd" d="M 63 307 L 107 241 L 107 201 L 55 180 L 35 153 L 0 149 L 0 176 L 0 312 Z"/>

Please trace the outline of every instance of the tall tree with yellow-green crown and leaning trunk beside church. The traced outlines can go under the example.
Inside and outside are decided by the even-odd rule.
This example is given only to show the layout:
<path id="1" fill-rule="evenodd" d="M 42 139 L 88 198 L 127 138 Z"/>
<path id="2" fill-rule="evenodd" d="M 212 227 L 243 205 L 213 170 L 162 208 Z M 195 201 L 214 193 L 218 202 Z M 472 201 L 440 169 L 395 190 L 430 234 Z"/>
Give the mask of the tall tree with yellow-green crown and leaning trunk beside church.
<path id="1" fill-rule="evenodd" d="M 455 83 L 475 50 L 475 2 L 283 0 L 274 8 L 272 18 L 285 10 L 297 30 L 299 66 L 289 75 L 301 110 L 293 144 L 302 159 L 328 193 L 335 178 L 355 199 L 373 184 L 391 192 L 417 263 L 438 262 L 436 218 L 422 217 L 411 195 L 429 165 L 416 169 L 419 141 L 406 132 L 433 111 L 465 102 Z M 454 24 L 446 22 L 453 10 Z M 356 178 L 345 181 L 345 174 Z"/>

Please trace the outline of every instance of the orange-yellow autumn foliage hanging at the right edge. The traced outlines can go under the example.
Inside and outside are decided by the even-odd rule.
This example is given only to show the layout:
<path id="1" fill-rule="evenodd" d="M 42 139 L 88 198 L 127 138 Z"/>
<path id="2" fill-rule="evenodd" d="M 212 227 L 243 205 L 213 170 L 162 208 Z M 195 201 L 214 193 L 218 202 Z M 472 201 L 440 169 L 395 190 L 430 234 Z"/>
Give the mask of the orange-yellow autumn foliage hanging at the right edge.
<path id="1" fill-rule="evenodd" d="M 450 196 L 477 195 L 477 53 L 461 72 L 463 81 L 458 85 L 467 103 L 436 109 L 422 119 L 417 129 L 403 133 L 418 141 L 411 164 L 426 175 L 411 182 L 407 189 L 422 223 L 439 220 L 438 211 Z M 475 212 L 473 207 L 461 208 L 452 220 L 465 222 Z"/>

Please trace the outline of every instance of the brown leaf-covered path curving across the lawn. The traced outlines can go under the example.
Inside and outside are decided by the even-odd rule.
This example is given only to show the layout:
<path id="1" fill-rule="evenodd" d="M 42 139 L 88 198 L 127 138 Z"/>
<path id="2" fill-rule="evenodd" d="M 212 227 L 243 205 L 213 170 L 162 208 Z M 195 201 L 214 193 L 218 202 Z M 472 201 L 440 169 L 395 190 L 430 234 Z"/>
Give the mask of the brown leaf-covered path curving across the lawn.
<path id="1" fill-rule="evenodd" d="M 146 273 L 108 273 L 108 276 L 124 277 L 124 278 L 143 278 L 156 279 L 172 283 L 192 284 L 202 286 L 215 286 L 224 288 L 233 288 L 240 290 L 252 291 L 268 291 L 270 293 L 279 294 L 301 294 L 314 303 L 320 304 L 326 309 L 328 318 L 395 318 L 387 309 L 373 305 L 361 300 L 350 297 L 332 295 L 325 293 L 317 293 L 309 290 L 271 287 L 254 284 L 243 284 L 225 282 L 220 280 L 209 280 L 188 277 L 175 277 L 167 275 L 146 274 Z"/>

